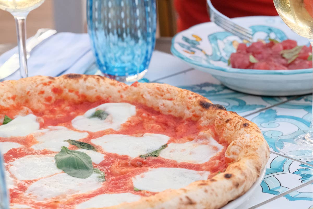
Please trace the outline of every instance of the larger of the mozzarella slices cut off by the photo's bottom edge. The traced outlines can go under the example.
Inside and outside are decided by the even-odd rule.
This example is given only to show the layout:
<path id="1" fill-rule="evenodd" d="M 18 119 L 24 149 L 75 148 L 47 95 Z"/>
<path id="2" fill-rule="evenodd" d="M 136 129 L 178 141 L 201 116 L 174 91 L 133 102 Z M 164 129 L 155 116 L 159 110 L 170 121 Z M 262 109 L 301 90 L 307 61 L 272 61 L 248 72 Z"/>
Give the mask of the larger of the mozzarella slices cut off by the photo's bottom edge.
<path id="1" fill-rule="evenodd" d="M 134 202 L 140 200 L 140 195 L 134 195 L 132 193 L 119 193 L 119 194 L 103 194 L 98 195 L 90 200 L 80 203 L 76 206 L 76 209 L 86 208 L 103 208 L 109 206 L 119 205 L 123 202 Z"/>

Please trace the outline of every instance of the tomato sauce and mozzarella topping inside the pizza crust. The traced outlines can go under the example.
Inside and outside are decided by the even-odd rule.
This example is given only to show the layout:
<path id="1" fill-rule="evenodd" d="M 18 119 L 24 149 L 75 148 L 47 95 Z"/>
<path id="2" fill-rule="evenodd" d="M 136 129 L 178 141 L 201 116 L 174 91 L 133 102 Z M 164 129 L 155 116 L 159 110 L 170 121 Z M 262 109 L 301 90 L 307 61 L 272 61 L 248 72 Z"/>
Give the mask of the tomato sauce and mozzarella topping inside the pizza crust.
<path id="1" fill-rule="evenodd" d="M 213 126 L 208 138 L 198 122 L 139 103 L 58 100 L 40 112 L 2 113 L 14 208 L 114 206 L 207 180 L 228 165 L 228 144 L 218 143 Z"/>

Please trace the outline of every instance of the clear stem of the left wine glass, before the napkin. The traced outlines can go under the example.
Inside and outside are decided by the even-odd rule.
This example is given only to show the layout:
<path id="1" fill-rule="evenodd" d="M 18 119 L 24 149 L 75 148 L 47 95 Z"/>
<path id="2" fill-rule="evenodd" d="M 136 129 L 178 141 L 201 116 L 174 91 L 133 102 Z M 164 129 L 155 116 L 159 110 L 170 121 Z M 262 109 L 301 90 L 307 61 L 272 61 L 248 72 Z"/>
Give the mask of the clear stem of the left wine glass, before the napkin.
<path id="1" fill-rule="evenodd" d="M 27 51 L 26 51 L 26 16 L 14 17 L 16 23 L 16 33 L 18 37 L 18 54 L 20 63 L 21 78 L 28 77 Z"/>

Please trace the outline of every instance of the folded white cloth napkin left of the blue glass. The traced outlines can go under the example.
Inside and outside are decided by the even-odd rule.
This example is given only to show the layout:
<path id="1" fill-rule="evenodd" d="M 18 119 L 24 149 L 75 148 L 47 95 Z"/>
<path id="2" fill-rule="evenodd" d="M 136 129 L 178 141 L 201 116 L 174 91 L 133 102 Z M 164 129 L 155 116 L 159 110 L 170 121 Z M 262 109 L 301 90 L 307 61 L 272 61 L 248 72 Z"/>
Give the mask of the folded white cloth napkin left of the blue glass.
<path id="1" fill-rule="evenodd" d="M 0 66 L 15 53 L 18 53 L 17 47 L 1 55 Z M 84 73 L 94 62 L 88 34 L 58 33 L 31 51 L 27 61 L 28 76 Z M 20 79 L 19 70 L 5 78 L 5 80 L 17 79 Z"/>

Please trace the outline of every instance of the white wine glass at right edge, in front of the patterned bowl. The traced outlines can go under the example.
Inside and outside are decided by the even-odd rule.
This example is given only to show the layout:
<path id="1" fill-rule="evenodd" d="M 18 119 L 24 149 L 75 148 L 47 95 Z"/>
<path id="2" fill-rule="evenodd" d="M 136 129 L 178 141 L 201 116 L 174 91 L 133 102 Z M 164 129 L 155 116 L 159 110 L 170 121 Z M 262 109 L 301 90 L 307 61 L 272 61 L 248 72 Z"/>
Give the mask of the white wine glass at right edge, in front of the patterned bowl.
<path id="1" fill-rule="evenodd" d="M 312 0 L 273 0 L 275 8 L 290 29 L 309 39 L 313 47 L 313 1 Z M 280 138 L 276 147 L 284 154 L 313 160 L 313 119 L 308 133 L 292 140 Z"/>

